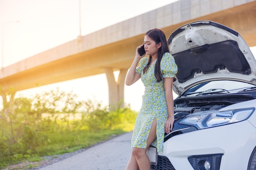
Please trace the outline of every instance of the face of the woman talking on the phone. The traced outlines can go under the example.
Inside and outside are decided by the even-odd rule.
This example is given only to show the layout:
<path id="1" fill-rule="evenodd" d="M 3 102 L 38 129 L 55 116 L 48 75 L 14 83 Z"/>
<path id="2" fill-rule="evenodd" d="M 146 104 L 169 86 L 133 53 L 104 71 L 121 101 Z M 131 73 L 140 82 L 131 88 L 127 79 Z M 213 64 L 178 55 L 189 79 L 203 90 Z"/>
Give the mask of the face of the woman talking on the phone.
<path id="1" fill-rule="evenodd" d="M 151 55 L 152 57 L 155 57 L 157 55 L 158 49 L 160 48 L 160 44 L 156 44 L 156 42 L 151 39 L 148 35 L 145 35 L 144 37 L 144 48 L 147 55 Z"/>

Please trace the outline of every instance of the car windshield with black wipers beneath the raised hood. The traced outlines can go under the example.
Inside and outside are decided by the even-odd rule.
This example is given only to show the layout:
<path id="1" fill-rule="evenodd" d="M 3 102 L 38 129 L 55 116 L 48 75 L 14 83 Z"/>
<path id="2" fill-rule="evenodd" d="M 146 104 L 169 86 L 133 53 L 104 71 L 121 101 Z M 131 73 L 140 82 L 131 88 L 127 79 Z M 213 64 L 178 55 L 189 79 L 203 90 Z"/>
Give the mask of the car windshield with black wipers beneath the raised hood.
<path id="1" fill-rule="evenodd" d="M 182 96 L 199 96 L 206 94 L 224 94 L 224 93 L 238 93 L 245 92 L 252 89 L 256 89 L 255 85 L 231 81 L 231 80 L 219 80 L 219 81 L 208 81 L 200 83 L 199 85 L 193 86 L 186 90 Z"/>

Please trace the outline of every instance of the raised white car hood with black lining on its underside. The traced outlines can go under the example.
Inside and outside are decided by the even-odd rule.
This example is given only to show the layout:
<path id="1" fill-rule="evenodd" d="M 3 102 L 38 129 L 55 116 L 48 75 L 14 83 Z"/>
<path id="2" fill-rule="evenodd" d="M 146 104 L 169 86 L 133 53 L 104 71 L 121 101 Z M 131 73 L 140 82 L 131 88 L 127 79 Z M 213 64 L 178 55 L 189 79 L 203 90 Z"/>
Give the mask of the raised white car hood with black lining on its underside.
<path id="1" fill-rule="evenodd" d="M 238 32 L 212 21 L 196 21 L 177 28 L 168 38 L 178 66 L 173 91 L 214 80 L 256 85 L 256 60 Z"/>

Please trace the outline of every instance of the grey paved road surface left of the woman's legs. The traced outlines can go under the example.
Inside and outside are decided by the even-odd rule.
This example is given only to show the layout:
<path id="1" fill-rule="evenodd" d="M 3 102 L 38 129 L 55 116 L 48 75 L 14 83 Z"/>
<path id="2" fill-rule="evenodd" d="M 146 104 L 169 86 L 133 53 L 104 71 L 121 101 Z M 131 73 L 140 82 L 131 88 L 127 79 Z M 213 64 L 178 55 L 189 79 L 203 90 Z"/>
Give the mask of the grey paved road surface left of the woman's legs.
<path id="1" fill-rule="evenodd" d="M 124 170 L 132 152 L 132 132 L 93 146 L 40 170 Z"/>

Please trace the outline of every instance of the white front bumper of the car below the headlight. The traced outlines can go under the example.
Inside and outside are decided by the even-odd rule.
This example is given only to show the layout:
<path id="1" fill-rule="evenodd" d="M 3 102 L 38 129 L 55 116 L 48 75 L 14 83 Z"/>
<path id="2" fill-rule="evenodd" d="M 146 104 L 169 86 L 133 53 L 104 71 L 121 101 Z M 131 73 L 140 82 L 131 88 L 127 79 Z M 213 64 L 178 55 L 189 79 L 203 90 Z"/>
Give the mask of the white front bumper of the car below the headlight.
<path id="1" fill-rule="evenodd" d="M 158 155 L 161 159 L 166 158 L 170 161 L 174 168 L 170 170 L 195 170 L 188 157 L 200 157 L 200 155 L 202 157 L 222 155 L 220 168 L 216 170 L 245 170 L 252 150 L 256 146 L 255 141 L 256 129 L 246 120 L 176 135 L 164 142 L 163 151 Z M 162 162 L 166 164 L 166 160 L 158 160 L 157 165 L 161 170 L 165 169 L 161 167 Z"/>

